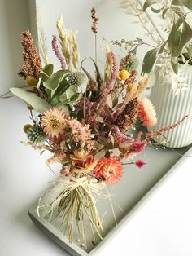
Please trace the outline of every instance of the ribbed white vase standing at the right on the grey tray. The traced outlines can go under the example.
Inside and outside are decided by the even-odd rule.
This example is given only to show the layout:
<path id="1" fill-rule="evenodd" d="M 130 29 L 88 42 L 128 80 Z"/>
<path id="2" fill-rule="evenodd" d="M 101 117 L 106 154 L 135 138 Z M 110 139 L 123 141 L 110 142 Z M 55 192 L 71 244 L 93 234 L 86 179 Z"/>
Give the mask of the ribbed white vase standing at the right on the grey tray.
<path id="1" fill-rule="evenodd" d="M 156 72 L 159 68 L 156 69 Z M 157 138 L 158 143 L 164 143 L 169 148 L 182 148 L 192 143 L 192 66 L 185 65 L 180 70 L 180 76 L 185 78 L 189 86 L 187 90 L 177 90 L 172 88 L 172 83 L 161 83 L 161 79 L 156 74 L 155 85 L 151 88 L 151 102 L 154 104 L 158 123 L 152 130 L 171 126 L 183 117 L 188 115 L 180 126 L 164 132 L 164 136 Z"/>

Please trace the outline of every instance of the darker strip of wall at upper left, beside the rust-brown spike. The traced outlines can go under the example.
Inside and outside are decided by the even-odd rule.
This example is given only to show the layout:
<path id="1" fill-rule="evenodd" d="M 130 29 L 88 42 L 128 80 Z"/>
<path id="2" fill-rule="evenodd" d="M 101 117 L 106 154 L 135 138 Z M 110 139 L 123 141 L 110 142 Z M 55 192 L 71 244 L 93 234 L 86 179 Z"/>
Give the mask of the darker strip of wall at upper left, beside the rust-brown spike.
<path id="1" fill-rule="evenodd" d="M 21 86 L 23 83 L 17 73 L 22 64 L 20 33 L 29 28 L 28 1 L 1 0 L 0 10 L 2 94 L 11 86 Z"/>

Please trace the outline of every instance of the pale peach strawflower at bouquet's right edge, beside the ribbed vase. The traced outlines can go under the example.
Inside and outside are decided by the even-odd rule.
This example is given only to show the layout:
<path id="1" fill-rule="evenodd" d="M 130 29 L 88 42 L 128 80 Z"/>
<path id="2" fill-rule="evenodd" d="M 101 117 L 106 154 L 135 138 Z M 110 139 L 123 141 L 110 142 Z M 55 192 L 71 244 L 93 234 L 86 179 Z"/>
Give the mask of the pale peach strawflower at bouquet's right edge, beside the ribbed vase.
<path id="1" fill-rule="evenodd" d="M 143 121 L 144 126 L 151 127 L 156 125 L 156 112 L 150 99 L 145 97 L 140 100 L 138 117 Z"/>

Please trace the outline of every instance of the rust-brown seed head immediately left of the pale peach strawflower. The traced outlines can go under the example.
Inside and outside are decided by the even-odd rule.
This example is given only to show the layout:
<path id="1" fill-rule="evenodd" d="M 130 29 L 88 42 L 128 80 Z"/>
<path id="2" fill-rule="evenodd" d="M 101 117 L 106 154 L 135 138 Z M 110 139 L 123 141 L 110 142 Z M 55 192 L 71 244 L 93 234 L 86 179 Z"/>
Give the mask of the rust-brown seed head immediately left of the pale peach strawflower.
<path id="1" fill-rule="evenodd" d="M 121 132 L 125 132 L 137 121 L 138 114 L 138 100 L 137 98 L 129 100 L 124 110 L 117 117 L 116 126 L 120 128 Z"/>

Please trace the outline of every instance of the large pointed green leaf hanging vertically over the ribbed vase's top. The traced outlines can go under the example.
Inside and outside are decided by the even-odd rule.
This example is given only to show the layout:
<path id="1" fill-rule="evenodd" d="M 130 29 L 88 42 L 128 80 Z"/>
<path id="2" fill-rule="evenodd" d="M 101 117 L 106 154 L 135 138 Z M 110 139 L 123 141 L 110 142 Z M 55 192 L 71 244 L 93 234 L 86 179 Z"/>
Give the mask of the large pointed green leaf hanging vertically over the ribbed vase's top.
<path id="1" fill-rule="evenodd" d="M 176 24 L 173 24 L 172 30 L 168 36 L 168 48 L 172 56 L 177 54 L 177 48 L 179 46 L 180 40 L 180 33 L 177 29 L 177 26 Z"/>

